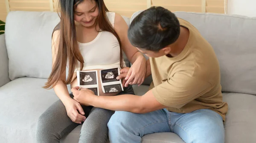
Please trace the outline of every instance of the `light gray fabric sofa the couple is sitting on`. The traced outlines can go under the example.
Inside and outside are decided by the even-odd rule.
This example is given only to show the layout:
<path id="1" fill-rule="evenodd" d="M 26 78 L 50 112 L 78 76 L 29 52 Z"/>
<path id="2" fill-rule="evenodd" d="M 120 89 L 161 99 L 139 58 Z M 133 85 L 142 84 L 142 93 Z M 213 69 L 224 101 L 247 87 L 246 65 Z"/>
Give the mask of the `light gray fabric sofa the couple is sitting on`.
<path id="1" fill-rule="evenodd" d="M 256 142 L 256 18 L 176 12 L 213 46 L 221 67 L 223 98 L 229 104 L 226 143 Z M 136 16 L 136 14 L 135 14 Z M 129 19 L 125 17 L 127 23 Z M 35 143 L 39 116 L 58 97 L 41 88 L 51 71 L 52 12 L 10 12 L 0 35 L 0 143 Z M 137 95 L 148 82 L 134 86 Z M 81 125 L 61 140 L 78 143 Z M 142 143 L 184 143 L 173 133 L 145 135 Z"/>

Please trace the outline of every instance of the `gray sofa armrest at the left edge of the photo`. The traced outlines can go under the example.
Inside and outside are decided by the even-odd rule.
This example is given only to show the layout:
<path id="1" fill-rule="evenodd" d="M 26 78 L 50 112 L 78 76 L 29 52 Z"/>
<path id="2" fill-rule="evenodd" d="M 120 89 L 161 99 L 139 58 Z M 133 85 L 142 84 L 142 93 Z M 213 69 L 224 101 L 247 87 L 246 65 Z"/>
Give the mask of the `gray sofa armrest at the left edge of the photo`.
<path id="1" fill-rule="evenodd" d="M 5 43 L 5 34 L 0 35 L 0 87 L 7 84 L 9 79 L 8 73 L 8 55 L 6 50 L 6 43 Z"/>

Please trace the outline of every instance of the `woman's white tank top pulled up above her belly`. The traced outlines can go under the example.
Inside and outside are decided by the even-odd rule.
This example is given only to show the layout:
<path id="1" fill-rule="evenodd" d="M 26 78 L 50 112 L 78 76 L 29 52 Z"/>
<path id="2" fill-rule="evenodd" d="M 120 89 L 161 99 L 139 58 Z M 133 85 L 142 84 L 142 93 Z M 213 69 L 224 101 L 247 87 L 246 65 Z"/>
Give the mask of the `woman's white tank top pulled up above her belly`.
<path id="1" fill-rule="evenodd" d="M 115 13 L 106 12 L 114 27 Z M 93 41 L 80 43 L 79 49 L 84 58 L 83 70 L 109 69 L 120 67 L 120 45 L 117 38 L 108 31 L 101 31 Z M 125 61 L 122 60 L 125 67 Z M 80 70 L 80 63 L 77 70 Z"/>

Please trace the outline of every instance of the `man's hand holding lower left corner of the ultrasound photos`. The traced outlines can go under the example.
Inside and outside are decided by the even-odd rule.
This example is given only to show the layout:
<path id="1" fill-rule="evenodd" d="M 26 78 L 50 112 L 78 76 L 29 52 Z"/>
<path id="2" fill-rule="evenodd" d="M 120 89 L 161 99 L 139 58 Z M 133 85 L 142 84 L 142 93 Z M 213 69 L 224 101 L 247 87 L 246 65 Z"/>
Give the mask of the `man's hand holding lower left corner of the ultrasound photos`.
<path id="1" fill-rule="evenodd" d="M 71 89 L 71 92 L 74 95 L 74 100 L 79 102 L 82 105 L 90 106 L 90 103 L 88 103 L 91 96 L 96 96 L 94 95 L 92 90 L 88 90 L 87 88 L 80 88 L 79 87 L 74 87 Z"/>

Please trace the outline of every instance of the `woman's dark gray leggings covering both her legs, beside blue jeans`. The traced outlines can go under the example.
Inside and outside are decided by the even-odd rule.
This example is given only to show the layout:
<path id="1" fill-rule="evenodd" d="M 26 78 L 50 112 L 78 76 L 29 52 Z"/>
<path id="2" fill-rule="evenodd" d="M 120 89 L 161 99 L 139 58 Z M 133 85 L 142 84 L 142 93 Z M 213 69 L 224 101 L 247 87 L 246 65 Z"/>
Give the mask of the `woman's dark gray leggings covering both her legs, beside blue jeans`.
<path id="1" fill-rule="evenodd" d="M 133 94 L 131 86 L 119 93 Z M 73 98 L 73 95 L 70 94 Z M 81 127 L 79 143 L 106 143 L 108 139 L 108 121 L 114 111 L 96 107 L 82 106 L 87 117 Z M 60 143 L 61 137 L 69 134 L 78 126 L 67 116 L 63 103 L 58 100 L 52 104 L 38 119 L 36 143 Z"/>

